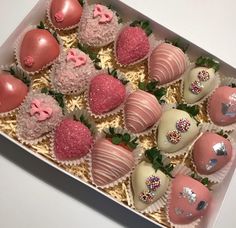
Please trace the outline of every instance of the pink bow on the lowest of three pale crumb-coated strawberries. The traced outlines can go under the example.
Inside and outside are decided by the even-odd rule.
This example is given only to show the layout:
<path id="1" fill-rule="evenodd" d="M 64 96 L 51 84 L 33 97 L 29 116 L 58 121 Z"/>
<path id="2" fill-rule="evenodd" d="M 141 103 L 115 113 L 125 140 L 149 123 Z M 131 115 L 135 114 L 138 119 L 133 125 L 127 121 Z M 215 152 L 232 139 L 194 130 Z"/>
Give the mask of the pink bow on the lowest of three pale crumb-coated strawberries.
<path id="1" fill-rule="evenodd" d="M 44 121 L 52 116 L 51 108 L 44 108 L 38 99 L 31 102 L 30 115 L 35 116 L 38 121 Z"/>

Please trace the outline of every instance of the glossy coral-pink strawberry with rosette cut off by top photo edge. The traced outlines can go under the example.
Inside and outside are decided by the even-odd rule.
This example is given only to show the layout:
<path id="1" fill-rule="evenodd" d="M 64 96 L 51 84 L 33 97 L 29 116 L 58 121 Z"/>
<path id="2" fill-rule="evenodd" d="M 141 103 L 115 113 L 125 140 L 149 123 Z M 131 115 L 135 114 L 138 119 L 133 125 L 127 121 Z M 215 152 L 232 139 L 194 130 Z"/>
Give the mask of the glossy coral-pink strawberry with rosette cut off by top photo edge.
<path id="1" fill-rule="evenodd" d="M 78 0 L 52 0 L 48 9 L 49 20 L 57 29 L 76 27 L 83 8 Z"/>

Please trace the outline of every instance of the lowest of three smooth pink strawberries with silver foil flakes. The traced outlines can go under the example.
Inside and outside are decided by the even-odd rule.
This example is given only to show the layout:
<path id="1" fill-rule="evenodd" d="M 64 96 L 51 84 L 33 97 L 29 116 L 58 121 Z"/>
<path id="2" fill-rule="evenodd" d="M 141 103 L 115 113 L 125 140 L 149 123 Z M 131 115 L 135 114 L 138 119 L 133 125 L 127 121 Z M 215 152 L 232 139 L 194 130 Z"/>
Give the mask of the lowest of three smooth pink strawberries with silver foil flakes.
<path id="1" fill-rule="evenodd" d="M 211 200 L 211 192 L 202 183 L 189 176 L 177 175 L 172 181 L 168 200 L 170 221 L 174 224 L 192 223 L 206 214 Z"/>

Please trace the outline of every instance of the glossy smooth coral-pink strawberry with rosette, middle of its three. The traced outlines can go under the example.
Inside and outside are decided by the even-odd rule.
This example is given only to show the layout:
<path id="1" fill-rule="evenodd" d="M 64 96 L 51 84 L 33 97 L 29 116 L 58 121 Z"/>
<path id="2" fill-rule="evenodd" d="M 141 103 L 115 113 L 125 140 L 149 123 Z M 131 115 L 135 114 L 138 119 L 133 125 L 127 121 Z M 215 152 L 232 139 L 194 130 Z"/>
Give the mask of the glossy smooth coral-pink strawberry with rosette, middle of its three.
<path id="1" fill-rule="evenodd" d="M 60 53 L 60 47 L 54 36 L 45 29 L 28 31 L 20 44 L 18 64 L 29 72 L 37 72 L 55 60 Z"/>

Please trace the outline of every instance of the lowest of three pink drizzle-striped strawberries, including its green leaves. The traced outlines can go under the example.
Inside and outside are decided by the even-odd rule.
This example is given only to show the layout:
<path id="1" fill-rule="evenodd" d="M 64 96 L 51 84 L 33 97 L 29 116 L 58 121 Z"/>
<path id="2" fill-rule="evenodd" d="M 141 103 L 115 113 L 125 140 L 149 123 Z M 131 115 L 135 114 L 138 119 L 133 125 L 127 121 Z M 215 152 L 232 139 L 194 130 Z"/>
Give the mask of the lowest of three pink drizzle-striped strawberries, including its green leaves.
<path id="1" fill-rule="evenodd" d="M 125 137 L 128 140 L 124 141 Z M 137 144 L 135 139 L 129 137 L 128 134 L 116 134 L 114 129 L 110 128 L 106 138 L 96 141 L 92 149 L 91 166 L 93 182 L 97 186 L 104 187 L 114 183 L 127 176 L 134 167 L 133 150 Z"/>

